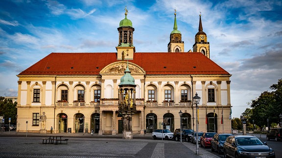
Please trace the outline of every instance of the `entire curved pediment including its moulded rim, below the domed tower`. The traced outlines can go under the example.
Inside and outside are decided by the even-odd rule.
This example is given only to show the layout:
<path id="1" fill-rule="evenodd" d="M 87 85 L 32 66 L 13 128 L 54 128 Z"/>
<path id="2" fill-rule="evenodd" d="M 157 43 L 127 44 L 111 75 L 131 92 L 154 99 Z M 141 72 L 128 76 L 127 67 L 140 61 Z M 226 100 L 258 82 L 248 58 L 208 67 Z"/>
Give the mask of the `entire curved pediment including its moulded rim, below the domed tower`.
<path id="1" fill-rule="evenodd" d="M 100 74 L 124 74 L 126 66 L 127 62 L 125 61 L 113 62 L 104 67 L 100 71 Z M 145 74 L 145 71 L 134 63 L 128 62 L 128 68 L 131 71 L 131 74 Z"/>

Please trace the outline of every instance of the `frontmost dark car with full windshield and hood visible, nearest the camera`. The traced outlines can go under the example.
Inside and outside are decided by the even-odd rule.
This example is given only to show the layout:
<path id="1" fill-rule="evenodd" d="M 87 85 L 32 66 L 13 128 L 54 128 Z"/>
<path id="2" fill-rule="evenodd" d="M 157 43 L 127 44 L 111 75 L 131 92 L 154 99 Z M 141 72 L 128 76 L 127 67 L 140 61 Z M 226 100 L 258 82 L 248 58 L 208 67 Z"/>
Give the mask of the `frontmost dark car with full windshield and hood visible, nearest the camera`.
<path id="1" fill-rule="evenodd" d="M 229 136 L 223 153 L 224 158 L 275 158 L 274 150 L 255 136 Z"/>

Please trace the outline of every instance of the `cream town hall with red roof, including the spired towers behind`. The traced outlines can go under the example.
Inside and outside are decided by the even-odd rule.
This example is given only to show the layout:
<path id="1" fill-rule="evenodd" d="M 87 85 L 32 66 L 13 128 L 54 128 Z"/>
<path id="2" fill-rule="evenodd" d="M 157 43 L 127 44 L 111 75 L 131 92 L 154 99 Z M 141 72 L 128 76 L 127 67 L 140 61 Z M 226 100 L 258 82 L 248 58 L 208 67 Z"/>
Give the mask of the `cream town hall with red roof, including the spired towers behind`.
<path id="1" fill-rule="evenodd" d="M 176 12 L 167 38 L 167 52 L 136 52 L 132 21 L 119 22 L 117 51 L 113 53 L 51 53 L 18 76 L 17 131 L 47 133 L 122 133 L 120 98 L 135 99 L 133 134 L 155 129 L 196 130 L 193 96 L 201 97 L 199 131 L 231 133 L 230 77 L 210 59 L 210 42 L 201 15 L 193 50 L 184 50 Z M 134 91 L 119 90 L 127 73 Z M 129 101 L 130 101 L 129 99 Z M 182 112 L 180 117 L 179 112 Z M 45 115 L 43 115 L 43 113 Z"/>

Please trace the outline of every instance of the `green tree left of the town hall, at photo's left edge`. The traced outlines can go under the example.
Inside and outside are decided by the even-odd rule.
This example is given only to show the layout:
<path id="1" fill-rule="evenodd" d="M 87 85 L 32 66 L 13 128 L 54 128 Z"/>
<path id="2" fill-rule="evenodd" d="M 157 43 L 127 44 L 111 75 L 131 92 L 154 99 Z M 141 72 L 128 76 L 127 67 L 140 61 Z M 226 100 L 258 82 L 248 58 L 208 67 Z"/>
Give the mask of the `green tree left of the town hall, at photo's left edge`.
<path id="1" fill-rule="evenodd" d="M 11 118 L 10 124 L 16 124 L 17 104 L 18 102 L 13 103 L 11 99 L 0 97 L 0 116 L 5 119 L 5 124 L 9 124 L 9 118 Z"/>

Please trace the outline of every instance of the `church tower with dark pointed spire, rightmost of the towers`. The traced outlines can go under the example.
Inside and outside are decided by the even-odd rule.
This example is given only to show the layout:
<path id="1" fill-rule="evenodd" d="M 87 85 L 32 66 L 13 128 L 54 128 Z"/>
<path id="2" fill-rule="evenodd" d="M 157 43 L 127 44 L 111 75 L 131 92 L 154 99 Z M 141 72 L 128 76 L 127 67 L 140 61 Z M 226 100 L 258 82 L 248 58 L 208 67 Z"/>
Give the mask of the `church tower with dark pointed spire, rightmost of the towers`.
<path id="1" fill-rule="evenodd" d="M 206 57 L 210 58 L 210 42 L 208 42 L 207 34 L 203 31 L 201 14 L 199 22 L 199 32 L 195 35 L 195 44 L 193 52 L 201 52 Z"/>

